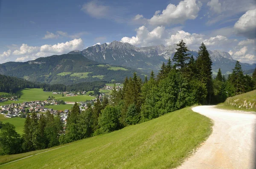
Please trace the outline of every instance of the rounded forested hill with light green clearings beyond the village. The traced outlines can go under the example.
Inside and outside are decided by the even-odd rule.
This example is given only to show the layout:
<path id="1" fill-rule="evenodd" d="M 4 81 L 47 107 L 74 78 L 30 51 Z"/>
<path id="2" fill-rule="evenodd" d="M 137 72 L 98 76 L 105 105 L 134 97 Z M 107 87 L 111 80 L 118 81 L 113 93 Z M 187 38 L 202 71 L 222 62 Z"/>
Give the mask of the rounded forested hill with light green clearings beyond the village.
<path id="1" fill-rule="evenodd" d="M 32 82 L 71 85 L 81 82 L 122 82 L 135 70 L 100 64 L 81 54 L 63 54 L 41 57 L 28 62 L 0 64 L 0 74 L 15 76 Z M 137 70 L 138 72 L 138 70 Z M 144 77 L 139 73 L 140 77 Z"/>

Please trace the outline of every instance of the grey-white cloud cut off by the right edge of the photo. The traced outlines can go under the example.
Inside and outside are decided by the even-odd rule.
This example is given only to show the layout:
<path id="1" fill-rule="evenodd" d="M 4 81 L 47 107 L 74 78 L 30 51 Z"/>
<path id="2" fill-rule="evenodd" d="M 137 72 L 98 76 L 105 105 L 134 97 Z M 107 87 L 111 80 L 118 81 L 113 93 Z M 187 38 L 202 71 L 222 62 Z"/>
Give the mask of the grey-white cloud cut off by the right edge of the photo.
<path id="1" fill-rule="evenodd" d="M 234 28 L 237 34 L 249 39 L 256 38 L 256 9 L 249 10 L 243 14 L 235 23 Z"/>

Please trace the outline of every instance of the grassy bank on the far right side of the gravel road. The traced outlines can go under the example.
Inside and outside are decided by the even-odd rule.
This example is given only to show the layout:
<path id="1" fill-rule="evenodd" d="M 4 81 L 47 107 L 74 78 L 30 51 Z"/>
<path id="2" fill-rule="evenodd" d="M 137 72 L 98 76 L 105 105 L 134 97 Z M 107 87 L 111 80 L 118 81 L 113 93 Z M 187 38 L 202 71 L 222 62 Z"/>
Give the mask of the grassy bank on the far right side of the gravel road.
<path id="1" fill-rule="evenodd" d="M 256 112 L 256 90 L 229 97 L 223 105 L 218 105 L 217 108 Z"/>

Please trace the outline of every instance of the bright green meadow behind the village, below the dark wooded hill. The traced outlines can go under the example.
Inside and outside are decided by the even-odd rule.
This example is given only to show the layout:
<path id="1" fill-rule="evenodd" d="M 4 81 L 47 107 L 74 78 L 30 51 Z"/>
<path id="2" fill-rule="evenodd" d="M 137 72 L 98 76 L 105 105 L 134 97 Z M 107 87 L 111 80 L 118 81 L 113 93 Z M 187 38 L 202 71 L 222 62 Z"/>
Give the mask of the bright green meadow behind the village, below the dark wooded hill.
<path id="1" fill-rule="evenodd" d="M 23 103 L 24 101 L 36 101 L 36 100 L 47 100 L 48 96 L 54 96 L 55 98 L 61 97 L 61 94 L 52 94 L 52 92 L 44 92 L 43 89 L 23 89 L 17 92 L 20 94 L 18 101 L 5 101 L 1 102 L 0 105 L 6 105 L 11 103 Z"/>

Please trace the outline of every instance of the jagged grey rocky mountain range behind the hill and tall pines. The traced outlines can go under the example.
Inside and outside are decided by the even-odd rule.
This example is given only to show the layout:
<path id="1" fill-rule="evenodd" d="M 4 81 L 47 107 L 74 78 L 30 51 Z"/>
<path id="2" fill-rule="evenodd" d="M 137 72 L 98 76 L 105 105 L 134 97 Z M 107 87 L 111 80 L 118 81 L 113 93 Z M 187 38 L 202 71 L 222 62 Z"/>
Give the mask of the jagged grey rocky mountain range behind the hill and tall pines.
<path id="1" fill-rule="evenodd" d="M 88 59 L 108 63 L 111 65 L 122 65 L 139 70 L 150 72 L 159 70 L 163 62 L 167 62 L 170 57 L 173 58 L 177 45 L 157 45 L 150 47 L 137 48 L 129 43 L 113 41 L 110 44 L 94 45 L 83 51 L 71 51 L 69 54 L 82 54 Z M 190 54 L 197 56 L 197 51 L 190 51 Z M 218 50 L 209 51 L 212 58 L 213 74 L 221 68 L 222 73 L 229 74 L 235 67 L 236 60 L 233 60 L 227 52 Z M 254 69 L 256 64 L 241 63 L 243 70 Z"/>

